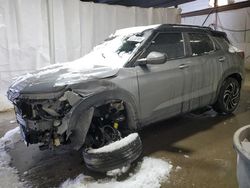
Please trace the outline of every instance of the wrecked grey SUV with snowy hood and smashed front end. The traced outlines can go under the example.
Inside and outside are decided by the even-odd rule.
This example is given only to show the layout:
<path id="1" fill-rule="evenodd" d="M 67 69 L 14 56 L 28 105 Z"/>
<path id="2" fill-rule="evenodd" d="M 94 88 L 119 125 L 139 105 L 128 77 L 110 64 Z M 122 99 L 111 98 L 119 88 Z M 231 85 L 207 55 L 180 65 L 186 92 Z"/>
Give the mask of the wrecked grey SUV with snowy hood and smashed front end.
<path id="1" fill-rule="evenodd" d="M 232 113 L 240 99 L 243 64 L 226 34 L 211 28 L 127 28 L 76 61 L 19 77 L 8 98 L 28 145 L 98 149 L 145 125 L 207 105 Z M 140 140 L 135 142 L 128 141 L 127 149 L 135 146 L 130 153 L 136 152 L 130 162 L 141 153 Z M 85 152 L 85 161 L 91 163 L 94 153 Z"/>

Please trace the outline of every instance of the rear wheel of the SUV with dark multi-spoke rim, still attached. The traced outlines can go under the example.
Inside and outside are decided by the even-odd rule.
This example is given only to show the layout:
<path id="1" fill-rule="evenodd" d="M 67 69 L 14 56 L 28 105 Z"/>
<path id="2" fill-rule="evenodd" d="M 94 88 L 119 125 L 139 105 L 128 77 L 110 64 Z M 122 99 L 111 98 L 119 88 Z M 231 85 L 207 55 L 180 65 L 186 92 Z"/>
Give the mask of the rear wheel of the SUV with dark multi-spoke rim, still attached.
<path id="1" fill-rule="evenodd" d="M 227 78 L 219 91 L 218 99 L 213 109 L 222 114 L 231 114 L 240 101 L 240 83 L 235 78 Z"/>

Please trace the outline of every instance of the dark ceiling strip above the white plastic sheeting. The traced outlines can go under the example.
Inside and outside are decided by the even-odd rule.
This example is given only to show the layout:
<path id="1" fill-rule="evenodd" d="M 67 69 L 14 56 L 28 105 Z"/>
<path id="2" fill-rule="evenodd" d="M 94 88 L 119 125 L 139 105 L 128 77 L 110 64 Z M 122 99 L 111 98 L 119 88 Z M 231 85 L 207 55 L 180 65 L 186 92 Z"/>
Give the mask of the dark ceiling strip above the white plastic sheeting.
<path id="1" fill-rule="evenodd" d="M 91 0 L 81 0 L 91 1 Z M 194 0 L 92 0 L 95 3 L 106 3 L 111 5 L 137 6 L 143 8 L 149 7 L 171 7 L 179 4 L 191 2 Z"/>

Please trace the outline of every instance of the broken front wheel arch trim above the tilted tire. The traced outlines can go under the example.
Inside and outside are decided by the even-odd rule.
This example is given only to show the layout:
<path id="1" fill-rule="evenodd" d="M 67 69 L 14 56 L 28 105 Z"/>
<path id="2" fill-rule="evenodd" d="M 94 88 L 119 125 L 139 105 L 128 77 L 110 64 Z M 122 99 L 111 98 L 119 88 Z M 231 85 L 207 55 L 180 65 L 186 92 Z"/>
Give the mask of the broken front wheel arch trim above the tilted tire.
<path id="1" fill-rule="evenodd" d="M 93 117 L 93 111 L 91 111 L 91 109 L 93 110 L 116 100 L 125 103 L 128 117 L 128 128 L 134 130 L 139 128 L 138 113 L 133 97 L 123 90 L 103 91 L 88 98 L 83 98 L 71 112 L 67 132 L 75 132 L 75 134 L 72 134 L 71 136 L 71 139 L 74 140 L 74 148 L 80 149 L 84 144 Z M 91 121 L 87 119 L 88 117 L 83 117 L 83 113 L 88 113 L 91 116 Z"/>

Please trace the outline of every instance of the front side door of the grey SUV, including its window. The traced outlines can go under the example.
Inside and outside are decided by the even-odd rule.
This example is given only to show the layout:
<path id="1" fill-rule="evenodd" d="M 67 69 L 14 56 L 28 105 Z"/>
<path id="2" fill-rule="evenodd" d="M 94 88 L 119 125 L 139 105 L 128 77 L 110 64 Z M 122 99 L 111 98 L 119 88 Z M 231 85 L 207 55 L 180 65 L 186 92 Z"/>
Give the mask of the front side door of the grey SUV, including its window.
<path id="1" fill-rule="evenodd" d="M 185 63 L 185 47 L 181 32 L 157 33 L 147 50 L 165 53 L 164 64 L 137 66 L 141 117 L 150 123 L 176 115 L 182 109 L 184 73 L 180 68 Z"/>

